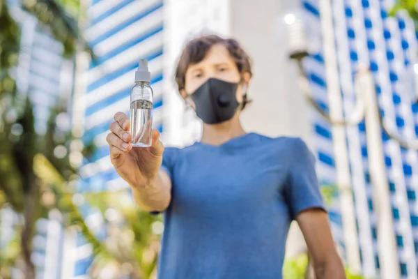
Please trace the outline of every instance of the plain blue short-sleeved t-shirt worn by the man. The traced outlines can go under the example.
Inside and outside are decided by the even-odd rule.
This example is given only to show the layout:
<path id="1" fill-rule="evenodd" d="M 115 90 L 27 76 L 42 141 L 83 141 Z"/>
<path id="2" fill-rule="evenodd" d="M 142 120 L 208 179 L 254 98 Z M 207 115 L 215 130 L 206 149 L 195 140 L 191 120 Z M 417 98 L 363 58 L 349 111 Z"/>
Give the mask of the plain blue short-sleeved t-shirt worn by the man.
<path id="1" fill-rule="evenodd" d="M 291 221 L 324 209 L 300 138 L 249 133 L 220 146 L 167 147 L 162 169 L 173 188 L 160 279 L 280 279 Z"/>

